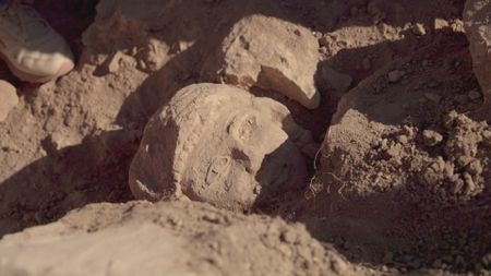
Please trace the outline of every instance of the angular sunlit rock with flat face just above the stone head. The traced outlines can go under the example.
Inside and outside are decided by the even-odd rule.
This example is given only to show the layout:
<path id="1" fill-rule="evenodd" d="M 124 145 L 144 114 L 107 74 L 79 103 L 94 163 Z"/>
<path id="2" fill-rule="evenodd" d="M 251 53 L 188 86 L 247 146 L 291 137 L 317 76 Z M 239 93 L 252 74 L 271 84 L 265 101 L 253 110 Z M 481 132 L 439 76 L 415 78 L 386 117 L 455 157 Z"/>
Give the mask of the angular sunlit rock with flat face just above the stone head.
<path id="1" fill-rule="evenodd" d="M 203 73 L 243 87 L 272 88 L 313 109 L 320 104 L 314 85 L 318 50 L 318 40 L 309 29 L 251 15 L 233 25 Z"/>

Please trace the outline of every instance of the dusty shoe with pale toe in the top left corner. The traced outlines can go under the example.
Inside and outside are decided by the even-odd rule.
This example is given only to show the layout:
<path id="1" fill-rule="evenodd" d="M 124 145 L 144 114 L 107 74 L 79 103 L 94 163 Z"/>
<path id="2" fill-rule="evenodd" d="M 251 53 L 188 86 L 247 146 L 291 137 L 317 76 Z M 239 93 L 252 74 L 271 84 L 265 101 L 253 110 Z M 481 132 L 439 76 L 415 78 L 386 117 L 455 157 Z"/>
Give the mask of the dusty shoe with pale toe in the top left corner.
<path id="1" fill-rule="evenodd" d="M 45 83 L 70 72 L 73 55 L 65 40 L 31 7 L 0 8 L 0 58 L 22 81 Z"/>

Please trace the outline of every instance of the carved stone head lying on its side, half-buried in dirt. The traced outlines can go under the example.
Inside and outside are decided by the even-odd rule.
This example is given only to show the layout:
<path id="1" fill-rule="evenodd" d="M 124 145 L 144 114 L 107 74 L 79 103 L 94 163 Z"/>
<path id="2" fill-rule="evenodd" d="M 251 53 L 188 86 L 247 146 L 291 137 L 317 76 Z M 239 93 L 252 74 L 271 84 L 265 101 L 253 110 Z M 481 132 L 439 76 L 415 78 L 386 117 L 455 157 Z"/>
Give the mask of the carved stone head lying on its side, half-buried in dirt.
<path id="1" fill-rule="evenodd" d="M 260 195 L 307 183 L 300 148 L 309 141 L 277 101 L 229 85 L 191 85 L 147 123 L 130 188 L 136 199 L 246 209 Z"/>

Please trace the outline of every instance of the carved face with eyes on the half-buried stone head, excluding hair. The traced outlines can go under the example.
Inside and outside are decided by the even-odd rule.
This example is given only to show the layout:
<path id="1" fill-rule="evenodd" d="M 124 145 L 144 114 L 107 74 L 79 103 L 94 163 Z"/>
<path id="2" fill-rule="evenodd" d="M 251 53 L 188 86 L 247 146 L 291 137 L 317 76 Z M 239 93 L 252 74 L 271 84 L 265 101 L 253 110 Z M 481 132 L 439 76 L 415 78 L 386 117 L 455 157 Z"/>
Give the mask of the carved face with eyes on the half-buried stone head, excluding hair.
<path id="1" fill-rule="evenodd" d="M 182 181 L 191 200 L 229 208 L 251 206 L 261 193 L 301 185 L 303 157 L 279 121 L 252 106 L 231 107 L 189 158 Z"/>

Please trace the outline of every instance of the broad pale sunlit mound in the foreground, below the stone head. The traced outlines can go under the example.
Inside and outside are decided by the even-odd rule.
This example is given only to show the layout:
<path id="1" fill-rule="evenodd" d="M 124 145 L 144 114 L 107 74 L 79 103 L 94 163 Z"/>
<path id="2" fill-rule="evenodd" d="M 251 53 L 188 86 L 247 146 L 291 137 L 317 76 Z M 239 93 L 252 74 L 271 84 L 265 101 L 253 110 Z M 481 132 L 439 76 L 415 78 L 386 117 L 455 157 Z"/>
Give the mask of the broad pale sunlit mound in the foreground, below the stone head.
<path id="1" fill-rule="evenodd" d="M 4 237 L 2 276 L 359 275 L 301 225 L 191 202 L 94 204 Z M 366 274 L 366 273 L 362 273 Z"/>

